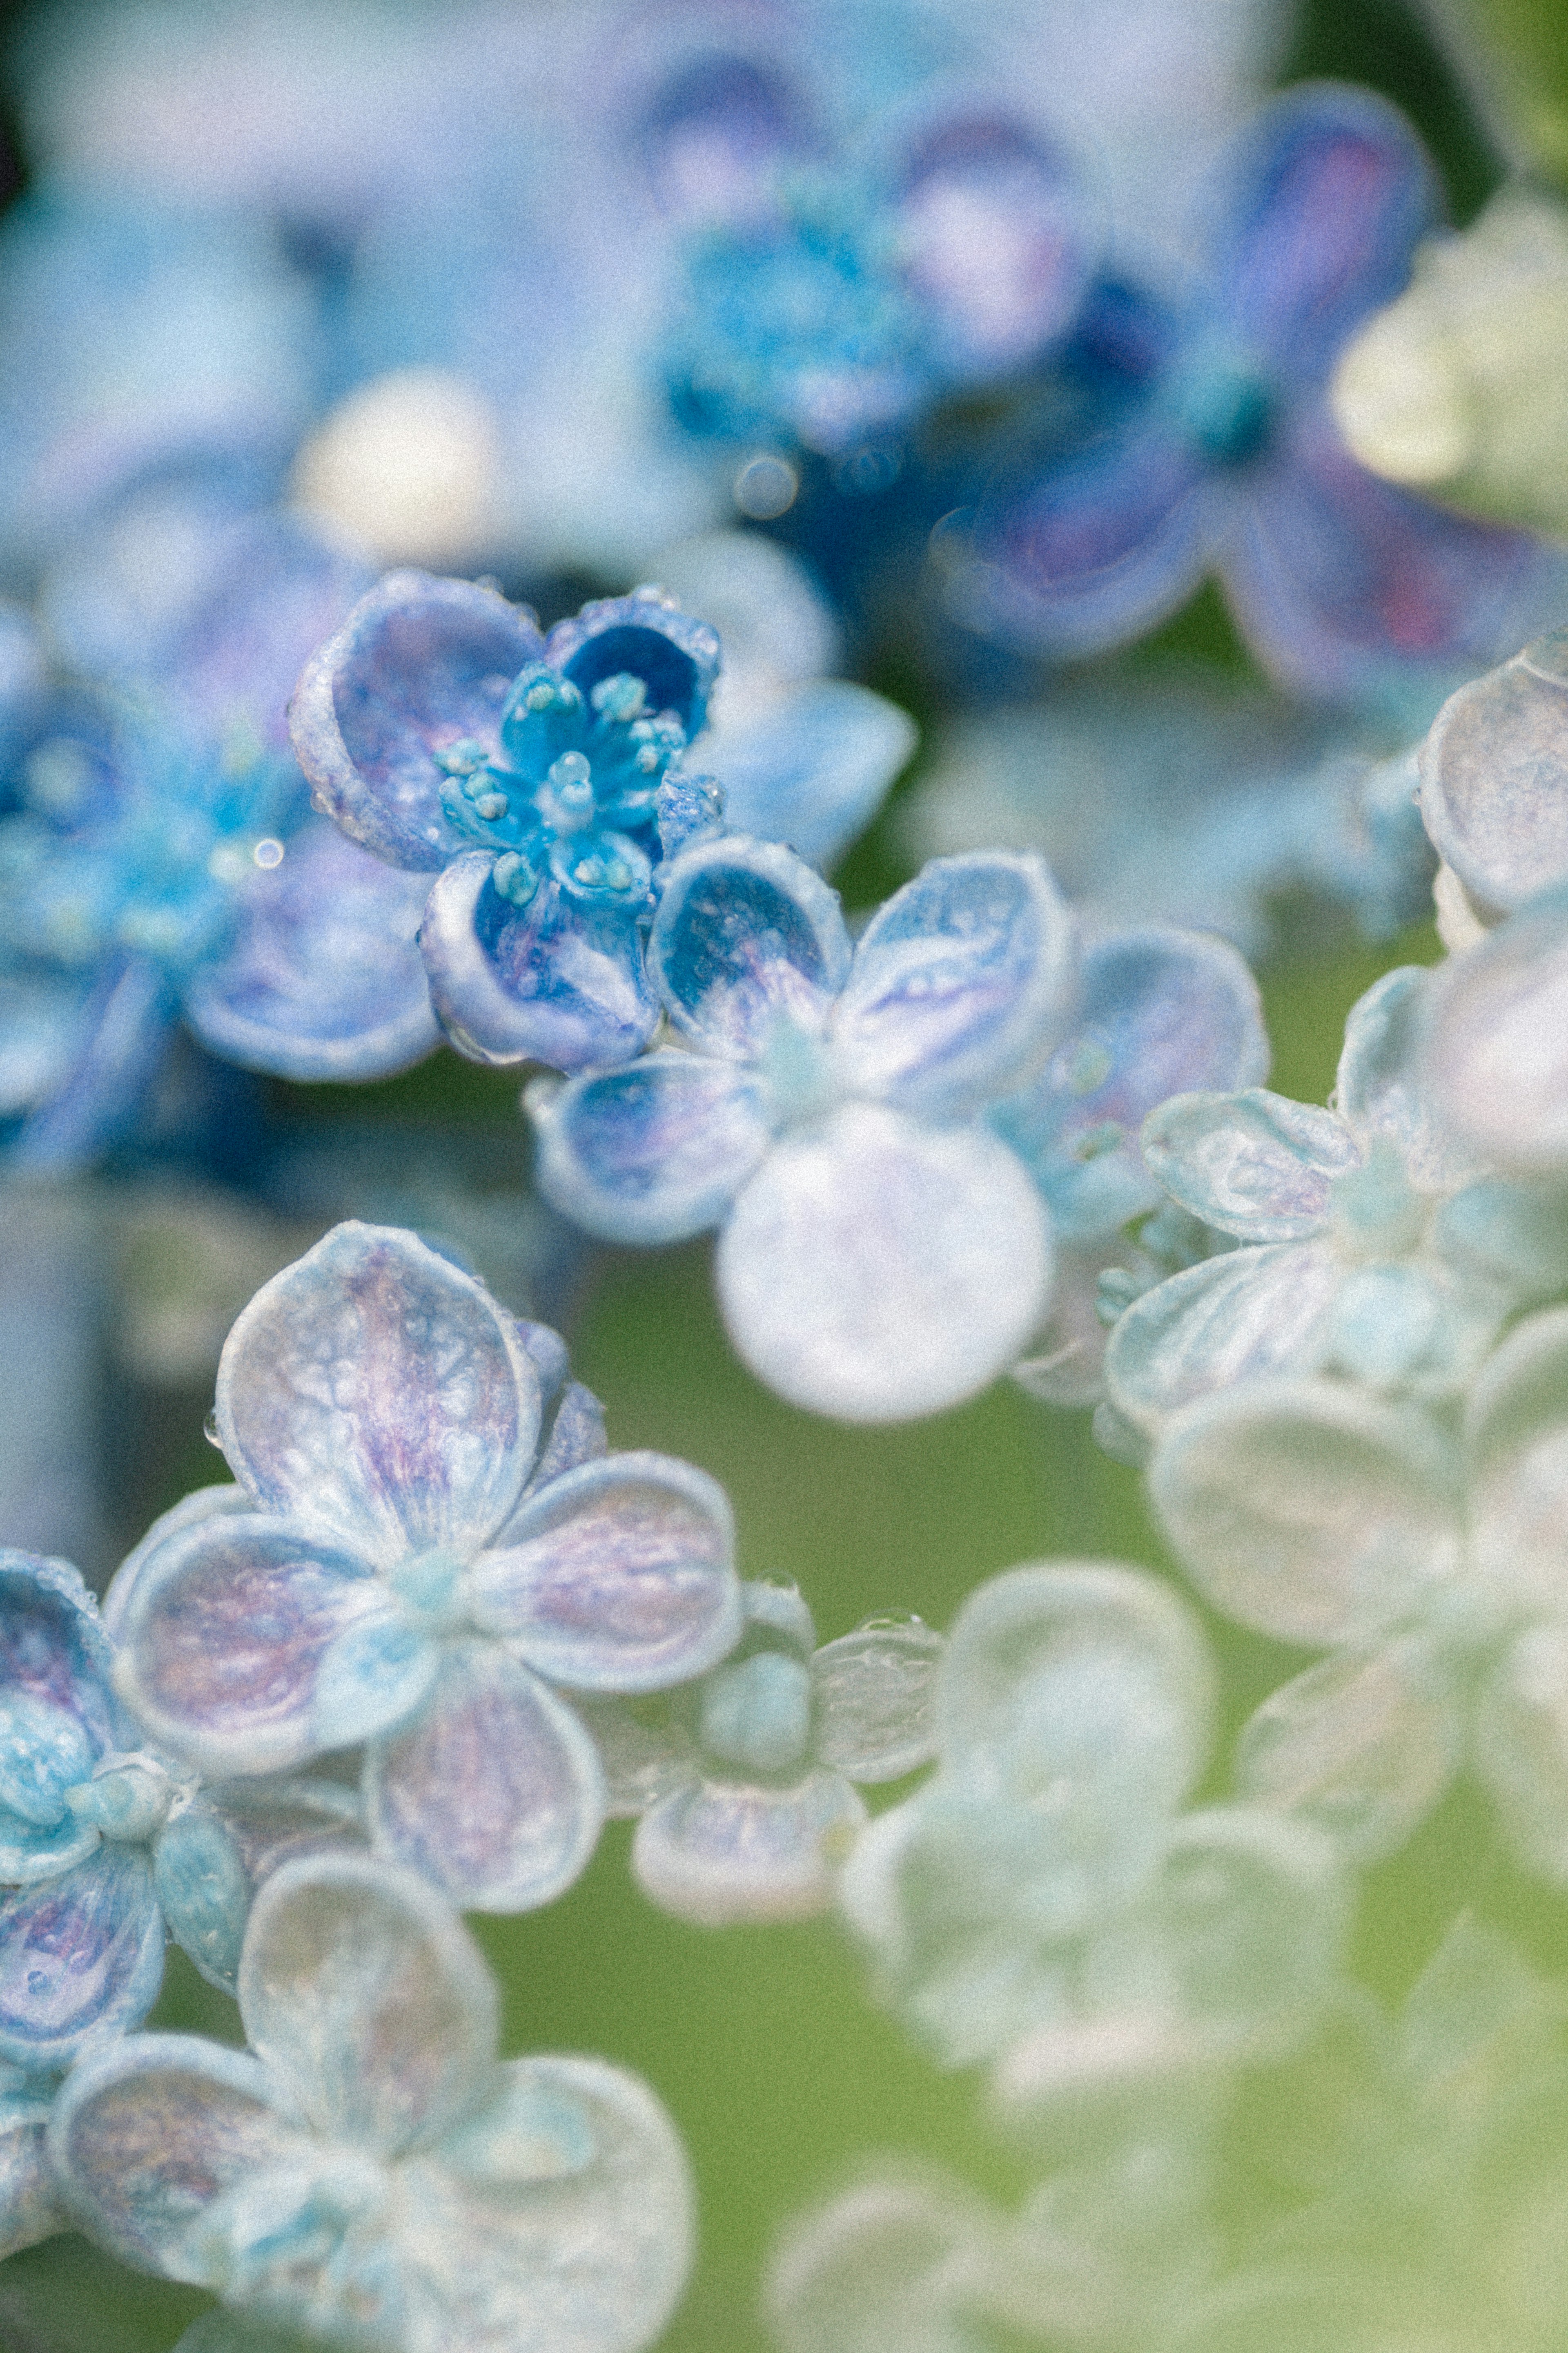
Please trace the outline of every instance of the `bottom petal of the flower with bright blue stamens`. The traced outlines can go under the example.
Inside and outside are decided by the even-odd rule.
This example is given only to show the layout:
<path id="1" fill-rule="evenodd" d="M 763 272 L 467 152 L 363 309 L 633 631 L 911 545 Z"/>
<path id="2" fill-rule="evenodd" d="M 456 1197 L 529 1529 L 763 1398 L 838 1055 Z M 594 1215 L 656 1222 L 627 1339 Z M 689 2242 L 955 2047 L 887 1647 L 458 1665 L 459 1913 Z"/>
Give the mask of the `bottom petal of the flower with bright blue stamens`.
<path id="1" fill-rule="evenodd" d="M 557 882 L 517 908 L 468 849 L 437 878 L 421 948 L 442 1028 L 473 1061 L 552 1071 L 630 1061 L 658 1021 L 637 911 L 592 906 Z"/>

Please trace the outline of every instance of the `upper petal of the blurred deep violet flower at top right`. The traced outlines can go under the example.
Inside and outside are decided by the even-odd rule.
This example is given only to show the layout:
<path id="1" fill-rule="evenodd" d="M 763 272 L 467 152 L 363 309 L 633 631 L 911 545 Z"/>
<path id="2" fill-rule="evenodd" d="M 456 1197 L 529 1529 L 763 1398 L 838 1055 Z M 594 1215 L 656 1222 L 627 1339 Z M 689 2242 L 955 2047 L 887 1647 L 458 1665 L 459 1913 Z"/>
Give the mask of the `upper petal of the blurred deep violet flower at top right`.
<path id="1" fill-rule="evenodd" d="M 1349 329 L 1403 292 L 1418 238 L 1441 219 L 1410 125 L 1368 89 L 1276 99 L 1234 174 L 1234 228 L 1215 254 L 1244 346 L 1321 374 Z"/>

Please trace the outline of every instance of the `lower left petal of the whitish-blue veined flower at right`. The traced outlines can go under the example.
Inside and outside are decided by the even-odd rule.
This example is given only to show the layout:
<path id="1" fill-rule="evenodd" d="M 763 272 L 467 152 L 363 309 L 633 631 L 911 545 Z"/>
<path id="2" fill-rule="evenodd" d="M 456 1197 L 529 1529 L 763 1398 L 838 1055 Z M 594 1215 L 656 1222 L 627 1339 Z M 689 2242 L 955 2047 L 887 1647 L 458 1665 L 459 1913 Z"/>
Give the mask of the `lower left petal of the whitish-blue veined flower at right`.
<path id="1" fill-rule="evenodd" d="M 1220 1388 L 1316 1367 L 1345 1268 L 1328 1242 L 1227 1249 L 1157 1282 L 1105 1348 L 1110 1402 L 1159 1433 Z"/>

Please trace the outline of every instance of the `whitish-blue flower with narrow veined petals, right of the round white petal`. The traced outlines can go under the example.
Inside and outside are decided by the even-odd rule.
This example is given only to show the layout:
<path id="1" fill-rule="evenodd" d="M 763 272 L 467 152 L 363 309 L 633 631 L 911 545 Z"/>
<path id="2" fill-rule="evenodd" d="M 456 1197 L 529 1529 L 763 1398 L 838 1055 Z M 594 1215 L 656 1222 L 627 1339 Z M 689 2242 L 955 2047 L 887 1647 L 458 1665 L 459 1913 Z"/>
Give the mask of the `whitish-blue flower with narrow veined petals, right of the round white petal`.
<path id="1" fill-rule="evenodd" d="M 1505 1315 L 1552 1294 L 1540 1207 L 1486 1174 L 1425 1087 L 1429 986 L 1406 965 L 1352 1007 L 1331 1111 L 1255 1087 L 1178 1094 L 1145 1120 L 1166 1193 L 1241 1247 L 1117 1322 L 1105 1377 L 1138 1428 L 1279 1372 L 1450 1395 Z"/>

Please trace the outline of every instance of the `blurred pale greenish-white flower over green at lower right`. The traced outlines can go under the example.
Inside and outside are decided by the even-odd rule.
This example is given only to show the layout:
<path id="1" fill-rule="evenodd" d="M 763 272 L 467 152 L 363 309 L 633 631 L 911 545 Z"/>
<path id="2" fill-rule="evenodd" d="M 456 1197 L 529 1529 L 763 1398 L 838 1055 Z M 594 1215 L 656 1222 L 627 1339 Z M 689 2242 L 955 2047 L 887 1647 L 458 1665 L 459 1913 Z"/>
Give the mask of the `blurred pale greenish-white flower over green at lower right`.
<path id="1" fill-rule="evenodd" d="M 842 1906 L 884 2000 L 1018 2115 L 1286 2047 L 1333 1986 L 1331 1845 L 1182 1812 L 1211 1741 L 1197 1621 L 1152 1577 L 1053 1565 L 969 1598 L 938 1772 L 863 1833 Z"/>

